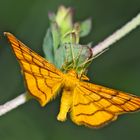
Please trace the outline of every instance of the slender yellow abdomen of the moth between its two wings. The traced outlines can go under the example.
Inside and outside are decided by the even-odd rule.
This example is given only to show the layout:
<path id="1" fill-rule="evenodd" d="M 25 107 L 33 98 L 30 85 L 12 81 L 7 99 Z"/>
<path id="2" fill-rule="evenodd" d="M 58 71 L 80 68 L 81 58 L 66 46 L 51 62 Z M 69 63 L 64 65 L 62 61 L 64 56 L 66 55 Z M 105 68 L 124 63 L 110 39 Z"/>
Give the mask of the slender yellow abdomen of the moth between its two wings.
<path id="1" fill-rule="evenodd" d="M 71 90 L 63 90 L 60 104 L 60 111 L 57 116 L 57 120 L 65 121 L 67 118 L 67 113 L 72 105 L 73 92 Z"/>

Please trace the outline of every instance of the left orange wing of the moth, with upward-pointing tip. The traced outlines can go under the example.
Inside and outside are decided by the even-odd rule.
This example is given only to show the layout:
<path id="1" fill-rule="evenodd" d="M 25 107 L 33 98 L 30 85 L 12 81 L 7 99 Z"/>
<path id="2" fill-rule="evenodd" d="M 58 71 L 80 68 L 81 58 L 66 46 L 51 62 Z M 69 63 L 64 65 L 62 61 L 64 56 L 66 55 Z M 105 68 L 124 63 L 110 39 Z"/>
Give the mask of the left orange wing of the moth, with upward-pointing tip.
<path id="1" fill-rule="evenodd" d="M 63 73 L 55 66 L 26 47 L 11 33 L 4 33 L 16 55 L 29 93 L 44 106 L 56 96 L 63 83 Z"/>

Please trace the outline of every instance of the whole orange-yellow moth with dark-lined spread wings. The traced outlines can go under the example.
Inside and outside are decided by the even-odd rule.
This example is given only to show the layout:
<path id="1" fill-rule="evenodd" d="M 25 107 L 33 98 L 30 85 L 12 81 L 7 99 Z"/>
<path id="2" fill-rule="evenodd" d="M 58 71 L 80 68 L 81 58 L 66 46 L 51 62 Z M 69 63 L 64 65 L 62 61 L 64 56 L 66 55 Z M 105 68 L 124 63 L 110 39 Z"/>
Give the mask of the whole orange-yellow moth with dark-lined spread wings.
<path id="1" fill-rule="evenodd" d="M 12 34 L 5 32 L 5 35 L 21 65 L 28 92 L 41 106 L 62 89 L 59 121 L 65 121 L 70 112 L 77 125 L 101 127 L 120 114 L 140 109 L 139 97 L 89 83 L 85 75 L 79 77 L 74 69 L 63 73 Z"/>

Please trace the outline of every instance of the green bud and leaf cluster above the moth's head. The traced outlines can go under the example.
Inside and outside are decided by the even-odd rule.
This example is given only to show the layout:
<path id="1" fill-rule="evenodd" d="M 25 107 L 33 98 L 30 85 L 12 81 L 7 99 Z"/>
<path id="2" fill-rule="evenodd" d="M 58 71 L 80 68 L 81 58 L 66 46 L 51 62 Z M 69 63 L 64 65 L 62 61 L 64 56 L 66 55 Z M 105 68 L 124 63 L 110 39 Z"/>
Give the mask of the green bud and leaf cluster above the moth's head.
<path id="1" fill-rule="evenodd" d="M 44 37 L 43 51 L 45 58 L 62 71 L 75 69 L 84 74 L 92 50 L 88 45 L 80 45 L 79 40 L 90 33 L 91 19 L 73 23 L 73 15 L 72 8 L 63 5 L 56 14 L 49 12 L 50 28 Z"/>

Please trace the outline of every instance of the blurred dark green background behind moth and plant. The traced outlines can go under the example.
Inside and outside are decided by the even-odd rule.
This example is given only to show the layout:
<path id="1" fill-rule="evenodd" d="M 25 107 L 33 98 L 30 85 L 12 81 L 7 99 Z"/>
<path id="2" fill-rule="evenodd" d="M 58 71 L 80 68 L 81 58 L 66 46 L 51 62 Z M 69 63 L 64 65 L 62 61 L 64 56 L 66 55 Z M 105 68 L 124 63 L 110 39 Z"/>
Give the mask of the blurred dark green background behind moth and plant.
<path id="1" fill-rule="evenodd" d="M 75 21 L 93 19 L 92 33 L 81 40 L 97 44 L 140 11 L 140 0 L 0 0 L 0 104 L 25 91 L 20 67 L 3 37 L 12 32 L 43 55 L 42 41 L 49 27 L 47 13 L 59 5 L 75 9 Z M 93 61 L 91 81 L 140 96 L 140 27 L 112 45 Z M 101 129 L 56 120 L 60 97 L 41 108 L 31 100 L 0 117 L 0 140 L 136 140 L 140 139 L 140 113 L 126 114 Z"/>

